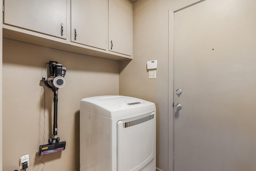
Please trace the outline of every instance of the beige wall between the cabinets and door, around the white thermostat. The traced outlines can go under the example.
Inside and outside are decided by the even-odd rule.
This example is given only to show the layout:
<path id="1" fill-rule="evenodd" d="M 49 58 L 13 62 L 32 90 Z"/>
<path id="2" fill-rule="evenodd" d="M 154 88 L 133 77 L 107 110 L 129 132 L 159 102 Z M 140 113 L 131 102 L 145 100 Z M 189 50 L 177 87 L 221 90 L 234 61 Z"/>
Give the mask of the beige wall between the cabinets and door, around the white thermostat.
<path id="1" fill-rule="evenodd" d="M 175 11 L 198 0 L 138 0 L 133 7 L 133 60 L 120 63 L 120 95 L 129 95 L 156 103 L 156 166 L 172 170 L 172 129 L 168 130 L 168 10 Z M 156 79 L 148 79 L 146 62 L 158 60 Z M 170 79 L 172 79 L 170 77 Z M 170 85 L 171 87 L 172 85 Z M 172 128 L 172 123 L 170 123 Z M 170 134 L 169 134 L 170 132 Z M 170 139 L 168 136 L 171 135 Z M 170 141 L 170 142 L 169 142 Z"/>

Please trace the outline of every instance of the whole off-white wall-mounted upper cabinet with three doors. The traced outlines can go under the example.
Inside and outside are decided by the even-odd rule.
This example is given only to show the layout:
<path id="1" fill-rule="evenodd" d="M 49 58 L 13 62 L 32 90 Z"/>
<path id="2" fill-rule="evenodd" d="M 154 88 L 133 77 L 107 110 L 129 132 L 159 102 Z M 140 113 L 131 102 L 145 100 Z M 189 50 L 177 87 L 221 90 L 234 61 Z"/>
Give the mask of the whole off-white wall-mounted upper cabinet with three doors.
<path id="1" fill-rule="evenodd" d="M 132 3 L 4 0 L 3 36 L 90 56 L 132 59 Z"/>

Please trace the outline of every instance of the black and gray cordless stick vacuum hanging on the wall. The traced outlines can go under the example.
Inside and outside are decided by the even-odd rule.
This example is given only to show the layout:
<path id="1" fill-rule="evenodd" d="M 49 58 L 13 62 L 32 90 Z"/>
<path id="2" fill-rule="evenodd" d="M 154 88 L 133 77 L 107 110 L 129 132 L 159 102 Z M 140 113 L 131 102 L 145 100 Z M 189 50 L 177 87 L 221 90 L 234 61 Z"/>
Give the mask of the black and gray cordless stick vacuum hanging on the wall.
<path id="1" fill-rule="evenodd" d="M 48 144 L 39 145 L 38 156 L 45 155 L 49 153 L 54 153 L 57 151 L 62 151 L 66 147 L 66 141 L 60 142 L 60 137 L 57 135 L 57 110 L 58 110 L 58 89 L 64 87 L 66 80 L 64 76 L 66 75 L 66 67 L 58 62 L 50 61 L 50 76 L 47 80 L 42 78 L 42 81 L 52 89 L 53 103 L 54 103 L 54 115 L 53 115 L 53 133 L 52 138 L 49 138 Z"/>

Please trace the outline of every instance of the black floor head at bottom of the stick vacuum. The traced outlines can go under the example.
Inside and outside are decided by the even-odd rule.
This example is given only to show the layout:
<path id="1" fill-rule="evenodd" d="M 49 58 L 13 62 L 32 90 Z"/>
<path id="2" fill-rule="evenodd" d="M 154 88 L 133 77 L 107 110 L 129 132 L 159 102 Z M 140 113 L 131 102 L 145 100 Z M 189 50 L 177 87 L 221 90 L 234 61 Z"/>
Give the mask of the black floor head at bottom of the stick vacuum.
<path id="1" fill-rule="evenodd" d="M 38 155 L 45 155 L 50 153 L 55 153 L 58 151 L 64 150 L 66 147 L 66 141 L 58 142 L 58 143 L 51 143 L 51 144 L 44 144 L 39 145 Z"/>

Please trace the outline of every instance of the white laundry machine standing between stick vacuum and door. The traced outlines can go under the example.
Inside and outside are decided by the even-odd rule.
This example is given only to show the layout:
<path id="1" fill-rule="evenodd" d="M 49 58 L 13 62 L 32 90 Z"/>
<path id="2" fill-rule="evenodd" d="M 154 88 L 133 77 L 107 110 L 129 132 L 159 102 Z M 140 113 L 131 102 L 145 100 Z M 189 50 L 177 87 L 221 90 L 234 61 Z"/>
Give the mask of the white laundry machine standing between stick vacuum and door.
<path id="1" fill-rule="evenodd" d="M 127 96 L 80 102 L 80 171 L 156 171 L 156 107 Z"/>

